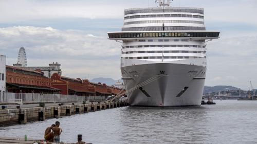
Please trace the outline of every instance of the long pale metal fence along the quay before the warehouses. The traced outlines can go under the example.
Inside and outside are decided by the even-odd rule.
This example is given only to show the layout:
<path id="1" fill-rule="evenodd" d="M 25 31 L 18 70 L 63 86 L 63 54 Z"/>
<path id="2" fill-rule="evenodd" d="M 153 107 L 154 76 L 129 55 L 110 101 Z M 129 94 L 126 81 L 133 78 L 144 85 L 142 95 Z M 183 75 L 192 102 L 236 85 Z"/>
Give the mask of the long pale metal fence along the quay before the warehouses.
<path id="1" fill-rule="evenodd" d="M 104 101 L 105 96 L 77 96 L 63 94 L 40 94 L 40 93 L 9 93 L 0 95 L 2 103 L 38 103 L 38 102 L 82 102 Z"/>

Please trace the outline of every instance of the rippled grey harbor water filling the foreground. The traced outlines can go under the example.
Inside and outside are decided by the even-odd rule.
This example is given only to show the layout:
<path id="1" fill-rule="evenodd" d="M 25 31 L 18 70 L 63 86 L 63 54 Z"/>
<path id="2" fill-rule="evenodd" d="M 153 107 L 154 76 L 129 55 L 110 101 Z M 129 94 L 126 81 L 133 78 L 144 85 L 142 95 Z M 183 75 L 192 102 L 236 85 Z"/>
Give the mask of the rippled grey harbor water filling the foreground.
<path id="1" fill-rule="evenodd" d="M 78 134 L 91 143 L 256 143 L 257 101 L 215 100 L 216 105 L 181 108 L 123 107 L 26 125 L 0 127 L 0 136 L 43 139 L 61 122 L 61 141 Z"/>

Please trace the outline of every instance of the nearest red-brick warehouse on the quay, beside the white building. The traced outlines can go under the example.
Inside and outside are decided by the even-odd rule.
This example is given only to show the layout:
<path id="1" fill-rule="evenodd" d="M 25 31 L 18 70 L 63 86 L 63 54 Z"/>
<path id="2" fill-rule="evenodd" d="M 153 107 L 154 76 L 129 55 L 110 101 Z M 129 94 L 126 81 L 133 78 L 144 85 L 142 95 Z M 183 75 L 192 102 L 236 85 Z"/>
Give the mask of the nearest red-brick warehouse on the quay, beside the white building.
<path id="1" fill-rule="evenodd" d="M 51 87 L 52 79 L 41 71 L 6 66 L 6 90 L 13 93 L 60 93 Z"/>

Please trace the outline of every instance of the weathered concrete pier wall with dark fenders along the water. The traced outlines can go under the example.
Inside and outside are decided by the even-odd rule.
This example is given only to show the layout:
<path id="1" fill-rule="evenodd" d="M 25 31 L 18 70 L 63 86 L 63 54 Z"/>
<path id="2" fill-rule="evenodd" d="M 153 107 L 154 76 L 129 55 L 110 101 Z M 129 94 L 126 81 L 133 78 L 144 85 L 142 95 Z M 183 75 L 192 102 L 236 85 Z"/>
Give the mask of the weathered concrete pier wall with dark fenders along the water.
<path id="1" fill-rule="evenodd" d="M 48 118 L 70 116 L 87 112 L 128 106 L 127 102 L 100 102 L 98 104 L 72 104 L 0 110 L 0 126 L 26 124 L 28 121 L 43 121 Z M 1 143 L 0 143 L 1 144 Z"/>

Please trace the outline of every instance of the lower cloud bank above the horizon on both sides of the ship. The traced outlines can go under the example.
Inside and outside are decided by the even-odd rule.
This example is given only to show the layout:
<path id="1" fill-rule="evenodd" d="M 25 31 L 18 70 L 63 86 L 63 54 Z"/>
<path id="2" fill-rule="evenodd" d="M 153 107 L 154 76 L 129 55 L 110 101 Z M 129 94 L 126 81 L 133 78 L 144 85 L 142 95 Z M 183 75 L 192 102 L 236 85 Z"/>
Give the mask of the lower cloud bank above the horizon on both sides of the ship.
<path id="1" fill-rule="evenodd" d="M 221 38 L 207 44 L 206 85 L 247 89 L 252 80 L 257 86 L 257 36 Z M 66 76 L 121 77 L 120 44 L 108 40 L 106 34 L 51 27 L 0 28 L 0 52 L 7 55 L 8 65 L 16 63 L 22 46 L 29 66 L 47 66 L 58 61 Z"/>

